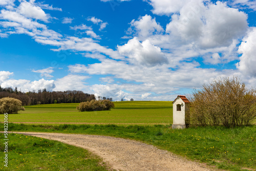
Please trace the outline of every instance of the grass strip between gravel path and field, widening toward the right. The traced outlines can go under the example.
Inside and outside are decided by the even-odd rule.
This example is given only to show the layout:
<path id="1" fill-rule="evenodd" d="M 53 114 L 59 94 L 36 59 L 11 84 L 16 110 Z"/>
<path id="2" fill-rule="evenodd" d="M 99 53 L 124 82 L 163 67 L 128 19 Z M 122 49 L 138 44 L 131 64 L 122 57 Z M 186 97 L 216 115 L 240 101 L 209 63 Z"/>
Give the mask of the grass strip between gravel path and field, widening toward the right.
<path id="1" fill-rule="evenodd" d="M 184 130 L 172 130 L 171 125 L 9 123 L 8 126 L 9 131 L 92 134 L 135 139 L 220 169 L 256 170 L 255 125 L 230 129 L 222 126 L 190 127 Z"/>

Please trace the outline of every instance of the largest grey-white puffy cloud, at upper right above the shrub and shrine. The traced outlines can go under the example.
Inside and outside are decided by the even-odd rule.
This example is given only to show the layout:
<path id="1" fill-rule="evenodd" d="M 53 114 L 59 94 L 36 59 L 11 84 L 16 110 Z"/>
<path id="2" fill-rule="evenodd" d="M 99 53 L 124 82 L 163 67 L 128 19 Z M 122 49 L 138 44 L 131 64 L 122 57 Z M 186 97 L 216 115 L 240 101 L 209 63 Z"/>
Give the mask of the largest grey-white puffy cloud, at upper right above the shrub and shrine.
<path id="1" fill-rule="evenodd" d="M 246 32 L 248 24 L 244 12 L 229 8 L 222 2 L 208 6 L 202 4 L 193 11 L 196 5 L 190 2 L 180 10 L 180 14 L 172 15 L 166 32 L 203 49 L 229 46 Z"/>

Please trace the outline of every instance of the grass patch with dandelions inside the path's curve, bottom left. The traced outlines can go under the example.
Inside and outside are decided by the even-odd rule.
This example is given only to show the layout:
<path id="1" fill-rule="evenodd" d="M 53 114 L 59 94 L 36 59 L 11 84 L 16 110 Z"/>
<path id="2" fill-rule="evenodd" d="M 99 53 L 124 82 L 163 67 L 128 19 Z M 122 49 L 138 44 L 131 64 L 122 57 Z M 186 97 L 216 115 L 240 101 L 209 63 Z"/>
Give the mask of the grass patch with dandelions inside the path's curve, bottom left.
<path id="1" fill-rule="evenodd" d="M 3 134 L 0 136 L 4 140 Z M 9 134 L 8 170 L 108 170 L 101 159 L 86 149 L 44 138 Z M 4 158 L 4 144 L 0 144 Z"/>

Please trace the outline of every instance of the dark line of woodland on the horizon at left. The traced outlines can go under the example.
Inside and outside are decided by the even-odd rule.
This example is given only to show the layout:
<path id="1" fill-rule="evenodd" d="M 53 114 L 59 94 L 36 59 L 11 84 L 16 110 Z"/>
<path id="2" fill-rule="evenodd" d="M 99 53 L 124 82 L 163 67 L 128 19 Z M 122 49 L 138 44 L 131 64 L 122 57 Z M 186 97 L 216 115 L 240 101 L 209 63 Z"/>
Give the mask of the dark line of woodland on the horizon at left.
<path id="1" fill-rule="evenodd" d="M 22 101 L 22 105 L 34 105 L 34 104 L 53 104 L 53 103 L 80 103 L 83 101 L 95 100 L 93 94 L 83 93 L 82 91 L 57 91 L 49 92 L 46 89 L 33 92 L 21 92 L 17 88 L 1 88 L 0 86 L 0 98 L 11 97 Z"/>

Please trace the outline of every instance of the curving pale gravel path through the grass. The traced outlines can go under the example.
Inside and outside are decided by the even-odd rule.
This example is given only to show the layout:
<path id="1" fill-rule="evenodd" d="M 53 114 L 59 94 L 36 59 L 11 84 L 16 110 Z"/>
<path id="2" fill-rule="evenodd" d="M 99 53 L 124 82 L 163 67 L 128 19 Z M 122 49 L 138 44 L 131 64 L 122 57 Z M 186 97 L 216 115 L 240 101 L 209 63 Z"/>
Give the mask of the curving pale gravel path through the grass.
<path id="1" fill-rule="evenodd" d="M 96 135 L 13 132 L 88 149 L 116 170 L 213 170 L 142 142 Z"/>

